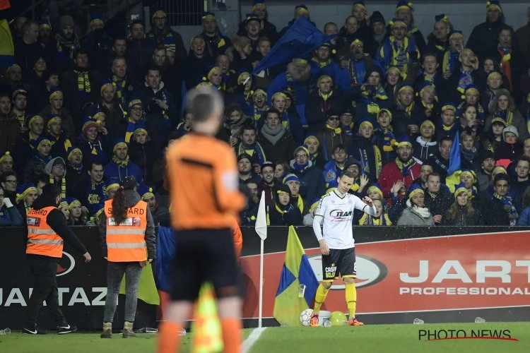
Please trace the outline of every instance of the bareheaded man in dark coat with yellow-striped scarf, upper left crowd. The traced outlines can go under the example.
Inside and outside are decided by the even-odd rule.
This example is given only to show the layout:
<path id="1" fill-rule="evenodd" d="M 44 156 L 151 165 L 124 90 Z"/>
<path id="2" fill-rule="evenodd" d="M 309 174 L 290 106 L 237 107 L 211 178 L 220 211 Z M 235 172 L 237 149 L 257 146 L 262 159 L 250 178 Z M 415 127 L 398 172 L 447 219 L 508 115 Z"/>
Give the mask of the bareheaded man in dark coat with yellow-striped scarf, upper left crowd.
<path id="1" fill-rule="evenodd" d="M 84 105 L 98 99 L 98 90 L 93 88 L 101 87 L 101 75 L 90 69 L 88 53 L 83 49 L 73 53 L 73 64 L 73 70 L 66 71 L 62 76 L 64 102 L 74 116 L 82 116 Z M 77 131 L 81 130 L 80 127 L 77 126 Z"/>

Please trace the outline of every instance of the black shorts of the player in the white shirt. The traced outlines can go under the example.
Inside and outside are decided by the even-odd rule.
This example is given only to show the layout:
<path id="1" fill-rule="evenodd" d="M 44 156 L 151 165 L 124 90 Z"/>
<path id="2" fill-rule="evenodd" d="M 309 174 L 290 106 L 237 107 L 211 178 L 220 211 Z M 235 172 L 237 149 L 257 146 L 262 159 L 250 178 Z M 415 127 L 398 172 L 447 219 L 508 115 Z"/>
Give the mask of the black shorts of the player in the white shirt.
<path id="1" fill-rule="evenodd" d="M 357 277 L 355 248 L 329 249 L 329 255 L 322 255 L 322 280 L 333 282 L 339 273 L 343 279 Z"/>

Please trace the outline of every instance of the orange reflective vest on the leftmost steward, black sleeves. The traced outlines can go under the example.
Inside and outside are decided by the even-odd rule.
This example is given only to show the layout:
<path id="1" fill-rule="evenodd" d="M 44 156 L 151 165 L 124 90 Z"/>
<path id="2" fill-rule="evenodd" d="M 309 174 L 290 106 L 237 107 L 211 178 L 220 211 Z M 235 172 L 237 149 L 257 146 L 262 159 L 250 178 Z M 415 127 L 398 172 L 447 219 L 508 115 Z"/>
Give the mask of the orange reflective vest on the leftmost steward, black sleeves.
<path id="1" fill-rule="evenodd" d="M 26 215 L 28 224 L 28 243 L 25 253 L 34 255 L 50 256 L 52 258 L 63 257 L 63 239 L 49 227 L 46 218 L 56 207 L 49 206 L 35 210 L 31 208 Z"/>

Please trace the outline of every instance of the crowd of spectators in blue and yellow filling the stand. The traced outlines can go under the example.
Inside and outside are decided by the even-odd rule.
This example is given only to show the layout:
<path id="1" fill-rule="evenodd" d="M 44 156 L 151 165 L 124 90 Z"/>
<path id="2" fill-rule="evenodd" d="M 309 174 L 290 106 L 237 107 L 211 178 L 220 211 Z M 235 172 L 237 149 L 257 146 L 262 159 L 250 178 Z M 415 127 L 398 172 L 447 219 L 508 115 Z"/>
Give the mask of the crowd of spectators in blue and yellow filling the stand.
<path id="1" fill-rule="evenodd" d="M 269 225 L 312 224 L 344 170 L 377 208 L 359 225 L 530 224 L 530 8 L 515 31 L 488 1 L 466 40 L 444 14 L 424 36 L 408 1 L 387 19 L 353 1 L 343 24 L 322 28 L 329 42 L 253 72 L 300 16 L 310 8 L 278 30 L 255 0 L 229 38 L 205 12 L 188 52 L 162 10 L 149 32 L 134 20 L 113 38 L 98 13 L 83 35 L 69 15 L 58 28 L 17 18 L 0 81 L 0 225 L 21 225 L 48 183 L 71 225 L 95 224 L 128 175 L 166 225 L 164 150 L 189 133 L 182 97 L 197 85 L 225 97 L 217 137 L 249 190 L 242 225 L 261 191 Z"/>

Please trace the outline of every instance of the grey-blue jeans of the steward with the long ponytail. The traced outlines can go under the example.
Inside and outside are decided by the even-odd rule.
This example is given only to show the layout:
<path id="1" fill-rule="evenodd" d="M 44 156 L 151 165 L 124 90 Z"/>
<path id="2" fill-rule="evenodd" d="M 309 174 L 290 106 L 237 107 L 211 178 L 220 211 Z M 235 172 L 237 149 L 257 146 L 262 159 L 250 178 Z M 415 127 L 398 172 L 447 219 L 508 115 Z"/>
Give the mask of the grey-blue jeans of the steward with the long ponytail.
<path id="1" fill-rule="evenodd" d="M 138 302 L 138 286 L 142 267 L 138 261 L 126 263 L 107 262 L 107 299 L 103 320 L 112 323 L 118 305 L 119 286 L 125 274 L 125 321 L 134 322 Z"/>

